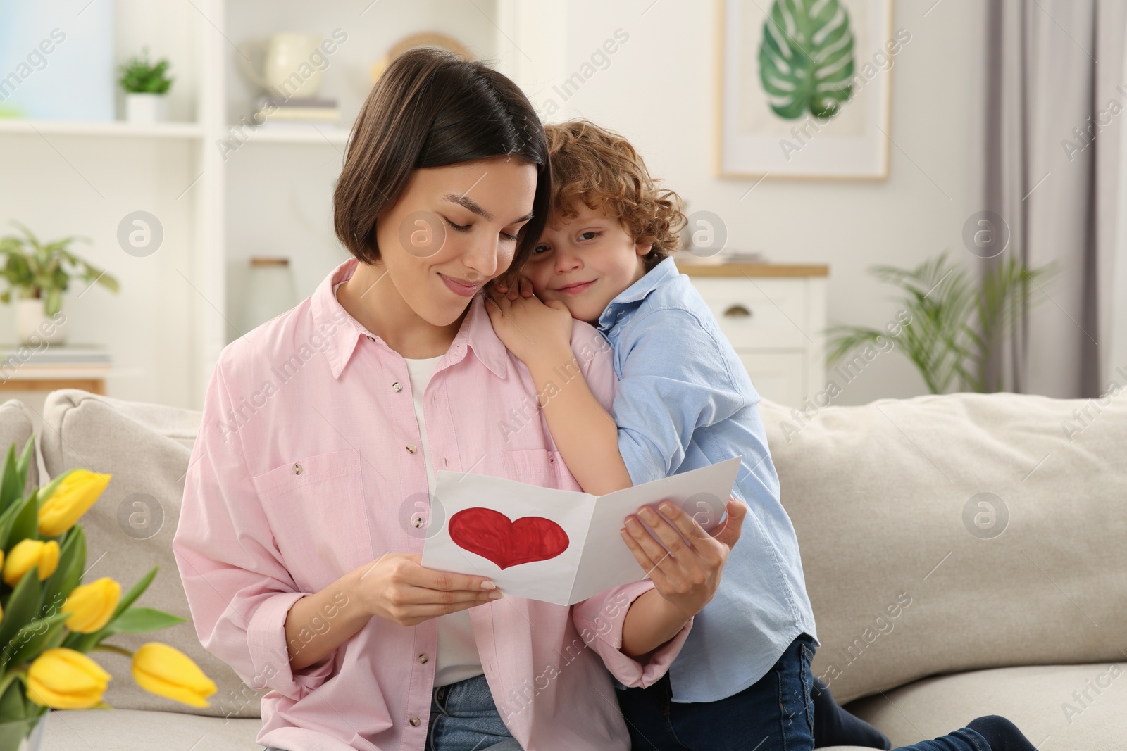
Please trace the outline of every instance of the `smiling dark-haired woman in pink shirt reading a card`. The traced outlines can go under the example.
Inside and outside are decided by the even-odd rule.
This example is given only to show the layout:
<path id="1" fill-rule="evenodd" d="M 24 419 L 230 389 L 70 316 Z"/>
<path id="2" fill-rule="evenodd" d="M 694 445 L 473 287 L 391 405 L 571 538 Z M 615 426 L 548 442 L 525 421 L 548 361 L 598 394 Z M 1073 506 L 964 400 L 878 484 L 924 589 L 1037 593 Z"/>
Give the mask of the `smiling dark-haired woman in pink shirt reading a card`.
<path id="1" fill-rule="evenodd" d="M 651 686 L 716 591 L 746 510 L 735 501 L 716 538 L 677 511 L 650 522 L 673 555 L 632 529 L 651 580 L 574 608 L 419 565 L 436 470 L 578 490 L 477 294 L 531 252 L 549 179 L 515 84 L 402 55 L 365 101 L 336 188 L 356 258 L 220 356 L 174 551 L 201 642 L 269 689 L 259 742 L 624 750 L 611 676 Z M 571 343 L 609 406 L 605 343 L 579 322 Z"/>

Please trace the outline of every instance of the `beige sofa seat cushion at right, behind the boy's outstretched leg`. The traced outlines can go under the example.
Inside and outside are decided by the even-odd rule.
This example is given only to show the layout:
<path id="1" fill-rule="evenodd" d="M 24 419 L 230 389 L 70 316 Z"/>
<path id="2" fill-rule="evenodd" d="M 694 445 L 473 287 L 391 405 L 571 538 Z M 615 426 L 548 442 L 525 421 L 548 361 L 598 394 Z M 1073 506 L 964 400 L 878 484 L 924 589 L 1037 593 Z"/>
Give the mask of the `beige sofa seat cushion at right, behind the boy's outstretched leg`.
<path id="1" fill-rule="evenodd" d="M 859 699 L 849 709 L 879 727 L 894 748 L 962 727 L 980 715 L 1002 715 L 1038 749 L 1122 749 L 1127 663 L 941 676 Z"/>

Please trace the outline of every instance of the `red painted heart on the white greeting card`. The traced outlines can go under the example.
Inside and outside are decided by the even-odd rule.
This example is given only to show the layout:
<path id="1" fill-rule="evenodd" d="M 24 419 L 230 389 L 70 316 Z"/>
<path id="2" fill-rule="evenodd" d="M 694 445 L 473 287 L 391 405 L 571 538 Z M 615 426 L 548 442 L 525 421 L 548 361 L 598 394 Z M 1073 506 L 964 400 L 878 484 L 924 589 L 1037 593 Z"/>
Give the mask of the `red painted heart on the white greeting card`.
<path id="1" fill-rule="evenodd" d="M 567 549 L 564 528 L 543 517 L 509 521 L 492 509 L 464 509 L 450 518 L 450 538 L 470 553 L 489 558 L 502 569 L 547 561 Z"/>

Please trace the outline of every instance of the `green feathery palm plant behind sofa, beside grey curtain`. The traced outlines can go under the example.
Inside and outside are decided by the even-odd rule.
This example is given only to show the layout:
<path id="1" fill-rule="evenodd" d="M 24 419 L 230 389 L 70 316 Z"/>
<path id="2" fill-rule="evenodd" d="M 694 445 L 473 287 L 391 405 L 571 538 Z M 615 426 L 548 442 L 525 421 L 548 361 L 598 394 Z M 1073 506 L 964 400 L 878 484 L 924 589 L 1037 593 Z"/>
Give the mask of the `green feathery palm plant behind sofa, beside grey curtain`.
<path id="1" fill-rule="evenodd" d="M 1039 284 L 1054 266 L 1026 268 L 1014 253 L 995 265 L 977 286 L 947 251 L 913 269 L 875 266 L 873 276 L 900 288 L 898 302 L 911 316 L 894 336 L 882 329 L 836 325 L 828 329 L 831 365 L 866 345 L 893 340 L 912 360 L 933 394 L 1000 391 L 1001 378 L 987 383 L 986 364 L 1027 306 L 1046 298 Z M 1038 294 L 1040 293 L 1040 294 Z"/>

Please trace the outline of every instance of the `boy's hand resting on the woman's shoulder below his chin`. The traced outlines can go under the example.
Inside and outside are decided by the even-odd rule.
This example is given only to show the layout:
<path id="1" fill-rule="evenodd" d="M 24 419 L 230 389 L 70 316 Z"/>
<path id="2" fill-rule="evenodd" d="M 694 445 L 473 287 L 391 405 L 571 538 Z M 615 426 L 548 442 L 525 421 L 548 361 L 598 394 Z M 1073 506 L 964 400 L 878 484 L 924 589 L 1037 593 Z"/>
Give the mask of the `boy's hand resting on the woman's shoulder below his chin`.
<path id="1" fill-rule="evenodd" d="M 527 279 L 487 296 L 486 310 L 497 337 L 530 369 L 533 364 L 564 365 L 571 358 L 571 313 L 558 299 L 540 302 Z"/>

